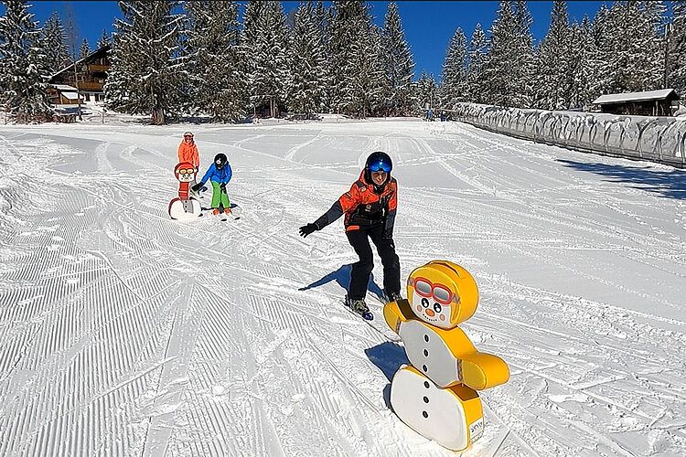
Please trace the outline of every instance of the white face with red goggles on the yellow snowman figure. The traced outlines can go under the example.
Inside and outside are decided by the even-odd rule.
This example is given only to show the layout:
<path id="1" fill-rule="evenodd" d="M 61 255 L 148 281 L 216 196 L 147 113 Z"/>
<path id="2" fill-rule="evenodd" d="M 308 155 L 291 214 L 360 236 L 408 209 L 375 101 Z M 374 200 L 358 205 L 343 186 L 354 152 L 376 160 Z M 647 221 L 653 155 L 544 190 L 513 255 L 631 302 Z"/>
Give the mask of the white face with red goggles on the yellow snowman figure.
<path id="1" fill-rule="evenodd" d="M 453 306 L 459 306 L 460 298 L 448 286 L 440 282 L 431 282 L 418 276 L 413 281 L 414 293 L 412 308 L 414 314 L 427 324 L 441 328 L 455 326 L 451 323 Z"/>

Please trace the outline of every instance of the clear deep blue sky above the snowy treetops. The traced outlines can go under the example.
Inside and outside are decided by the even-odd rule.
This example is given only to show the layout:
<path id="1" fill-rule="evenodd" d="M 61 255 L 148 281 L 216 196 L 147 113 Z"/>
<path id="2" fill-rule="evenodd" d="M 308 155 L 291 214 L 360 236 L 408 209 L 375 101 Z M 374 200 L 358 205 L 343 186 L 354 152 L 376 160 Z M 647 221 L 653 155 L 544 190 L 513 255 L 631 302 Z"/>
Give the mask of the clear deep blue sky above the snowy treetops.
<path id="1" fill-rule="evenodd" d="M 297 2 L 290 1 L 282 3 L 286 12 L 296 8 L 298 5 Z M 369 3 L 372 14 L 381 26 L 388 2 Z M 401 1 L 397 3 L 398 11 L 402 16 L 402 27 L 405 30 L 405 37 L 412 48 L 416 62 L 416 76 L 419 77 L 422 69 L 426 69 L 427 73 L 434 73 L 436 79 L 439 78 L 441 73 L 441 67 L 445 58 L 445 48 L 447 48 L 448 42 L 455 33 L 456 28 L 461 27 L 468 39 L 474 31 L 477 22 L 481 23 L 485 30 L 488 30 L 498 10 L 497 1 Z M 610 4 L 610 2 L 568 2 L 567 7 L 570 20 L 581 20 L 584 15 L 593 18 L 595 12 L 603 3 Z M 528 7 L 531 11 L 531 16 L 533 16 L 531 32 L 536 40 L 540 40 L 545 36 L 550 24 L 552 2 L 530 1 L 528 2 Z M 71 9 L 74 15 L 76 26 L 80 33 L 79 42 L 85 37 L 88 39 L 91 48 L 95 46 L 101 37 L 102 29 L 112 31 L 114 18 L 121 17 L 119 5 L 114 1 L 34 2 L 30 11 L 42 25 L 53 11 L 57 11 L 62 23 L 65 23 L 68 8 Z"/>

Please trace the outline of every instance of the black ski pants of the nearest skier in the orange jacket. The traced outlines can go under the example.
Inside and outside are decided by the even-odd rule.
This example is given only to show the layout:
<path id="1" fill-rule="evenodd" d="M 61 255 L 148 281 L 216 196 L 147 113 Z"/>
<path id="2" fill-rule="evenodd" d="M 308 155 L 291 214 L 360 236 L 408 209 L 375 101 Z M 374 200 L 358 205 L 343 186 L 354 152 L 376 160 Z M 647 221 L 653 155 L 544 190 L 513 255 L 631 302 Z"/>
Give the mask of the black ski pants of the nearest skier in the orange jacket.
<path id="1" fill-rule="evenodd" d="M 370 239 L 376 246 L 383 265 L 383 288 L 386 293 L 400 292 L 400 259 L 395 253 L 393 239 L 383 239 L 383 227 L 371 227 L 346 232 L 350 246 L 358 254 L 359 260 L 352 264 L 348 298 L 362 300 L 367 295 L 367 284 L 374 269 L 374 254 L 371 252 Z"/>

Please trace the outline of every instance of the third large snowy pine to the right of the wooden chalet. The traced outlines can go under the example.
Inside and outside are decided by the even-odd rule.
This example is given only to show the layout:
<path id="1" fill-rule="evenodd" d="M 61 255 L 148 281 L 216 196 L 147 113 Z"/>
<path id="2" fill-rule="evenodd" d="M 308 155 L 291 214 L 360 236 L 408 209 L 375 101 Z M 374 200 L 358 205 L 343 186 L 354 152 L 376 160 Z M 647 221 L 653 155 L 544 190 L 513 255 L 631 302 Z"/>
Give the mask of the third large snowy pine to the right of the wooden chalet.
<path id="1" fill-rule="evenodd" d="M 250 100 L 255 110 L 271 117 L 286 107 L 291 86 L 290 31 L 281 2 L 255 2 L 246 8 L 244 47 L 250 62 Z"/>

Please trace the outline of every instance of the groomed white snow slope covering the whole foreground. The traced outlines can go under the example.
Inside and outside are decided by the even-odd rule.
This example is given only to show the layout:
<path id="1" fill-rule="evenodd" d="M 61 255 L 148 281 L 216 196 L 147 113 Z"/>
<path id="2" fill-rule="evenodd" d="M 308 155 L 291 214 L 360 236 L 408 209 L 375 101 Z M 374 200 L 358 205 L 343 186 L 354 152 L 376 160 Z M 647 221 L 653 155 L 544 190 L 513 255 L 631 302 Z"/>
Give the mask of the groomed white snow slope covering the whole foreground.
<path id="1" fill-rule="evenodd" d="M 686 453 L 686 173 L 456 122 L 193 126 L 240 220 L 170 220 L 188 125 L 0 126 L 0 455 L 450 455 L 387 405 L 406 362 L 323 213 L 384 150 L 403 281 L 456 261 L 503 357 L 465 455 Z"/>

